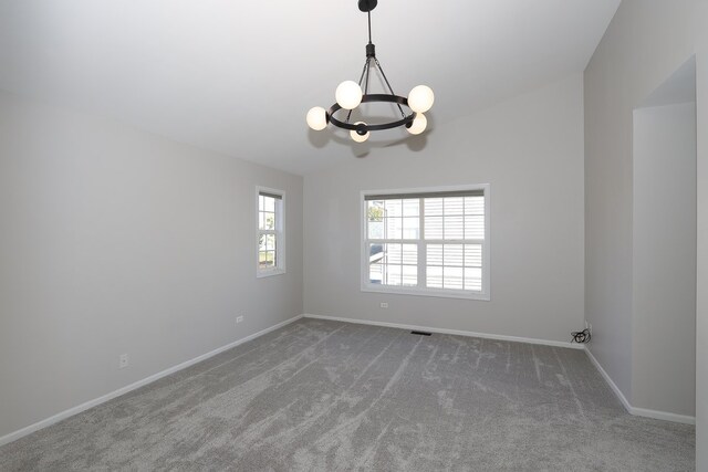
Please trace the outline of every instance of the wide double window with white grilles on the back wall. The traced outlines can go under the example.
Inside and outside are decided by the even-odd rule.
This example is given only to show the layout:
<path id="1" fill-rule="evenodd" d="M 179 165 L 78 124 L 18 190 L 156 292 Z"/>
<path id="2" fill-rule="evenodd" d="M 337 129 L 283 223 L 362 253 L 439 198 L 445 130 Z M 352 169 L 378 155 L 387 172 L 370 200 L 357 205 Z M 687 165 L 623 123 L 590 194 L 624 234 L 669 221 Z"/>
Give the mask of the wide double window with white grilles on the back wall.
<path id="1" fill-rule="evenodd" d="M 362 193 L 362 290 L 489 300 L 489 185 Z"/>

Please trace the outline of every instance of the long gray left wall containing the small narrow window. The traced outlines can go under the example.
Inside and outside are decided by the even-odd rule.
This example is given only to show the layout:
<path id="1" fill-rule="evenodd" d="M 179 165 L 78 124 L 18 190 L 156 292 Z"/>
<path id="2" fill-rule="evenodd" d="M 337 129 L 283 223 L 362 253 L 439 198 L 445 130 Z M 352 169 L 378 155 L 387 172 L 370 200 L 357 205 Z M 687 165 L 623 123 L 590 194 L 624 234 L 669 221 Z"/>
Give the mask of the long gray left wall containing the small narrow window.
<path id="1" fill-rule="evenodd" d="M 285 275 L 256 279 L 257 185 Z M 0 93 L 0 437 L 302 313 L 301 177 Z"/>

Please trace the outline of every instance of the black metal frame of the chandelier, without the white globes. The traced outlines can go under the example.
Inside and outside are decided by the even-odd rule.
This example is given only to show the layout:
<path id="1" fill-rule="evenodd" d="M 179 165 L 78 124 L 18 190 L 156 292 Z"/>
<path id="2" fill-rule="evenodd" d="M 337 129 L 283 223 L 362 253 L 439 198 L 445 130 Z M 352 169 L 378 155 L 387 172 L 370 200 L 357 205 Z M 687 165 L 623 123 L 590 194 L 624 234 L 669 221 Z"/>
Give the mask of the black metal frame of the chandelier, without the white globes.
<path id="1" fill-rule="evenodd" d="M 413 122 L 417 115 L 416 112 L 413 112 L 413 111 L 410 111 L 409 114 L 406 114 L 404 112 L 402 105 L 410 109 L 410 107 L 408 106 L 408 98 L 400 95 L 396 95 L 393 87 L 391 86 L 391 83 L 388 82 L 388 78 L 386 77 L 386 73 L 384 73 L 384 70 L 381 66 L 381 63 L 378 62 L 378 59 L 376 59 L 376 46 L 374 45 L 374 43 L 372 43 L 372 10 L 376 8 L 377 3 L 378 3 L 378 0 L 358 0 L 358 9 L 368 15 L 368 44 L 366 44 L 366 62 L 364 63 L 364 69 L 358 80 L 358 86 L 362 87 L 362 85 L 364 85 L 362 103 L 393 103 L 398 107 L 398 111 L 400 112 L 400 119 L 396 119 L 388 123 L 374 124 L 374 125 L 368 125 L 364 123 L 353 124 L 353 123 L 350 123 L 350 119 L 352 117 L 352 109 L 350 109 L 348 113 L 346 114 L 345 120 L 337 119 L 334 116 L 336 112 L 342 109 L 342 105 L 335 102 L 334 105 L 332 105 L 330 109 L 326 112 L 326 122 L 332 123 L 337 128 L 356 132 L 356 134 L 358 134 L 360 136 L 364 136 L 368 132 L 393 129 L 399 126 L 405 126 L 406 128 L 409 128 L 413 125 Z M 368 93 L 368 82 L 371 76 L 372 62 L 376 64 L 376 69 L 378 69 L 378 71 L 381 72 L 381 75 L 384 78 L 386 86 L 388 87 L 388 92 L 389 92 L 388 94 L 369 94 Z"/>

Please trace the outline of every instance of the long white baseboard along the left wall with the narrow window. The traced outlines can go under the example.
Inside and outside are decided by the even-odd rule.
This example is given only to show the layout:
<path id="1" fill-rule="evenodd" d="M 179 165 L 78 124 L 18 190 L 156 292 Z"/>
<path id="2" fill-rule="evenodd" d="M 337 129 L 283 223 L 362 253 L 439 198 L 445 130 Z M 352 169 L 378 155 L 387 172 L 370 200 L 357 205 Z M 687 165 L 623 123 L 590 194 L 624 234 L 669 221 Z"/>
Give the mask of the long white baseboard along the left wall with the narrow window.
<path id="1" fill-rule="evenodd" d="M 46 428 L 49 426 L 52 426 L 52 424 L 54 424 L 54 423 L 56 423 L 56 422 L 59 422 L 61 420 L 64 420 L 64 419 L 66 419 L 69 417 L 73 417 L 74 415 L 81 413 L 82 411 L 86 411 L 87 409 L 93 408 L 95 406 L 98 406 L 101 403 L 105 403 L 108 400 L 112 400 L 112 399 L 114 399 L 116 397 L 125 395 L 125 394 L 127 394 L 129 391 L 133 391 L 133 390 L 135 390 L 137 388 L 140 388 L 140 387 L 143 387 L 143 386 L 145 386 L 147 384 L 152 384 L 155 380 L 159 380 L 163 377 L 166 377 L 166 376 L 168 376 L 170 374 L 174 374 L 174 373 L 176 373 L 178 370 L 181 370 L 181 369 L 185 369 L 187 367 L 190 367 L 190 366 L 192 366 L 192 365 L 195 365 L 197 363 L 200 363 L 202 360 L 208 359 L 209 357 L 214 357 L 217 354 L 223 353 L 225 350 L 231 349 L 231 348 L 233 348 L 236 346 L 239 346 L 239 345 L 241 345 L 243 343 L 247 343 L 249 340 L 256 339 L 259 336 L 262 336 L 262 335 L 268 334 L 268 333 L 270 333 L 272 331 L 275 331 L 275 329 L 281 328 L 281 327 L 285 326 L 285 325 L 289 325 L 289 324 L 291 324 L 293 322 L 296 322 L 300 318 L 302 318 L 302 315 L 298 315 L 298 316 L 294 316 L 294 317 L 292 317 L 290 319 L 285 319 L 284 322 L 278 323 L 274 326 L 268 327 L 268 328 L 262 329 L 262 331 L 260 331 L 258 333 L 254 333 L 254 334 L 246 336 L 246 337 L 243 337 L 241 339 L 235 340 L 233 343 L 227 344 L 226 346 L 221 346 L 221 347 L 219 347 L 217 349 L 214 349 L 214 350 L 211 350 L 211 352 L 209 352 L 207 354 L 202 354 L 201 356 L 197 356 L 194 359 L 189 359 L 187 361 L 184 361 L 181 364 L 173 366 L 173 367 L 170 367 L 168 369 L 165 369 L 165 370 L 163 370 L 160 373 L 154 374 L 154 375 L 152 375 L 149 377 L 146 377 L 146 378 L 144 378 L 142 380 L 138 380 L 138 381 L 136 381 L 134 384 L 127 385 L 127 386 L 122 387 L 122 388 L 119 388 L 117 390 L 114 390 L 114 391 L 112 391 L 110 394 L 106 394 L 106 395 L 104 395 L 102 397 L 94 398 L 93 400 L 88 400 L 88 401 L 86 401 L 84 403 L 81 403 L 81 405 L 79 405 L 76 407 L 70 408 L 70 409 L 64 410 L 62 412 L 59 412 L 59 413 L 56 413 L 56 415 L 54 415 L 54 416 L 52 416 L 50 418 L 43 419 L 41 421 L 38 421 L 34 424 L 30 424 L 28 427 L 24 427 L 22 429 L 19 429 L 17 431 L 14 431 L 14 432 L 6 434 L 6 436 L 0 438 L 0 445 L 4 445 L 4 444 L 8 444 L 8 443 L 10 443 L 12 441 L 17 441 L 18 439 L 20 439 L 20 438 L 22 438 L 24 436 L 31 434 L 31 433 L 33 433 L 35 431 L 39 431 L 40 429 Z"/>

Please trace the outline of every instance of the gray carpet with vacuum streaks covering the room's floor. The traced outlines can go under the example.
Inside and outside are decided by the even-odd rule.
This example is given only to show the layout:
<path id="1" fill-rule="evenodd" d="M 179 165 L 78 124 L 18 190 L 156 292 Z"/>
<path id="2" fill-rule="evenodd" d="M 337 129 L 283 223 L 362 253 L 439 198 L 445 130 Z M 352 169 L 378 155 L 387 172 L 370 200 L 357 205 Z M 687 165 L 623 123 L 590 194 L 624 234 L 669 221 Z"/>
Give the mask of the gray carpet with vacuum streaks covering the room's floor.
<path id="1" fill-rule="evenodd" d="M 0 470 L 689 471 L 580 350 L 302 319 L 0 449 Z"/>

